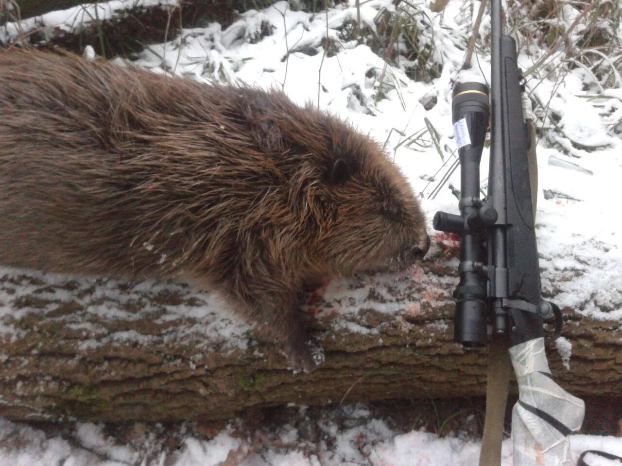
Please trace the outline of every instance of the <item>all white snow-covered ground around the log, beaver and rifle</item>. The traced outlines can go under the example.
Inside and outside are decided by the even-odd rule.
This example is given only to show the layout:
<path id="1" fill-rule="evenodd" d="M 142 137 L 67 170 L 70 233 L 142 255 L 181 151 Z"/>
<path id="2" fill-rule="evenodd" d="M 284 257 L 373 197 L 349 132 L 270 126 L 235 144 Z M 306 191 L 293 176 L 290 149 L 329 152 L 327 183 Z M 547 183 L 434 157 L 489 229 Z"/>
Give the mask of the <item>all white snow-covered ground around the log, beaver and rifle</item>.
<path id="1" fill-rule="evenodd" d="M 109 2 L 122 3 L 124 6 L 126 2 Z M 460 69 L 478 2 L 471 9 L 464 7 L 465 2 L 450 0 L 440 13 L 430 9 L 428 0 L 413 0 L 412 4 L 424 12 L 416 16 L 422 24 L 421 43 L 432 48 L 432 61 L 442 65 L 442 73 L 431 83 L 408 78 L 405 70 L 412 62 L 402 59 L 399 66 L 386 65 L 368 45 L 344 39 L 345 24 L 356 19 L 357 14 L 354 7 L 347 5 L 310 14 L 292 11 L 286 2 L 278 2 L 263 11 L 243 13 L 226 29 L 210 24 L 184 30 L 181 38 L 151 45 L 136 63 L 157 73 L 174 73 L 206 83 L 225 81 L 281 88 L 299 104 L 310 102 L 348 119 L 386 144 L 415 192 L 421 194 L 431 222 L 437 210 L 457 212 L 452 186 L 459 186 L 458 171 L 432 195 L 456 156 L 451 90 L 458 80 L 490 81 L 490 63 L 488 57 L 480 55 L 475 62 L 479 66 Z M 569 25 L 577 12 L 570 6 L 565 8 Z M 375 20 L 385 10 L 394 10 L 389 0 L 361 2 L 361 22 L 375 32 Z M 113 14 L 112 8 L 105 11 L 106 15 Z M 53 12 L 38 24 L 67 29 L 73 27 L 76 14 L 75 9 Z M 29 24 L 21 25 L 22 30 L 27 27 Z M 490 21 L 485 19 L 482 31 L 486 34 L 489 27 Z M 5 33 L 17 34 L 19 30 L 12 25 Z M 337 45 L 334 55 L 325 53 L 327 35 L 329 42 Z M 519 62 L 527 69 L 542 53 L 532 49 L 528 55 L 522 50 Z M 563 58 L 563 53 L 554 55 L 550 68 L 543 68 L 527 80 L 532 99 L 549 112 L 544 120 L 547 135 L 538 145 L 542 286 L 560 306 L 570 306 L 595 319 L 622 321 L 621 220 L 615 196 L 622 179 L 622 81 L 617 74 L 613 88 L 603 88 L 580 66 L 559 79 L 558 73 L 549 75 Z M 123 65 L 120 59 L 117 61 Z M 437 103 L 426 109 L 423 103 L 432 97 Z M 424 118 L 438 133 L 438 146 L 432 143 Z M 419 139 L 408 139 L 419 132 Z M 487 155 L 485 150 L 481 163 L 484 187 Z M 4 273 L 14 271 L 0 269 L 0 274 Z M 572 351 L 569 346 L 567 340 L 558 345 L 567 358 Z M 297 416 L 300 425 L 304 409 Z M 355 421 L 337 423 L 336 416 Z M 294 427 L 294 421 L 264 432 L 262 439 L 239 436 L 235 421 L 211 440 L 200 439 L 179 427 L 179 449 L 169 451 L 158 444 L 156 434 L 141 432 L 142 448 L 137 449 L 116 444 L 101 426 L 93 424 L 77 424 L 68 440 L 47 429 L 0 420 L 0 464 L 442 466 L 477 462 L 478 444 L 468 436 L 458 433 L 440 438 L 422 431 L 399 432 L 383 419 L 370 418 L 369 411 L 361 406 L 328 413 L 318 423 L 320 434 L 314 442 L 300 427 Z M 506 441 L 504 465 L 511 464 L 509 448 Z M 622 455 L 622 439 L 573 436 L 572 449 L 577 453 L 601 449 Z M 616 464 L 595 458 L 589 463 Z"/>

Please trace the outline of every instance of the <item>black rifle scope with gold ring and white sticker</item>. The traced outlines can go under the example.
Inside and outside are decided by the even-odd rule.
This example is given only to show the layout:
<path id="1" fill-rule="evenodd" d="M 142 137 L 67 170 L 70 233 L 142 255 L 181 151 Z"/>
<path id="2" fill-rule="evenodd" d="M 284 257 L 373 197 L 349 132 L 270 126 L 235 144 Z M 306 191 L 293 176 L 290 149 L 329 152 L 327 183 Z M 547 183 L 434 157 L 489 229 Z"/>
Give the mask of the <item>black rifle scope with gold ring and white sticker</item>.
<path id="1" fill-rule="evenodd" d="M 460 83 L 453 89 L 453 132 L 460 157 L 460 215 L 437 212 L 434 228 L 460 235 L 460 283 L 455 290 L 454 339 L 466 346 L 483 345 L 487 338 L 488 305 L 483 234 L 497 212 L 480 200 L 480 161 L 490 104 L 488 87 Z"/>

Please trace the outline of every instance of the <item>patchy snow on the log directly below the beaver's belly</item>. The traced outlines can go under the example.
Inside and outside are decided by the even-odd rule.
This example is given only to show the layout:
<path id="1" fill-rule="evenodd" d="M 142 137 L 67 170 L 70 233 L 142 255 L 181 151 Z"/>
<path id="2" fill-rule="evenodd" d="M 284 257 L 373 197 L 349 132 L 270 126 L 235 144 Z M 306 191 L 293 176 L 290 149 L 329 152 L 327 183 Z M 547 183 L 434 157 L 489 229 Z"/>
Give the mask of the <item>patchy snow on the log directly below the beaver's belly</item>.
<path id="1" fill-rule="evenodd" d="M 113 278 L 63 276 L 18 268 L 0 267 L 4 285 L 0 287 L 0 319 L 2 322 L 23 318 L 33 311 L 47 315 L 50 320 L 62 321 L 72 329 L 88 329 L 97 339 L 81 340 L 78 349 L 95 349 L 105 344 L 126 345 L 128 342 L 147 344 L 149 339 L 164 338 L 182 341 L 191 336 L 201 336 L 203 345 L 218 345 L 220 350 L 245 350 L 249 343 L 251 327 L 236 316 L 216 293 L 201 293 L 185 283 L 161 283 L 154 280 L 132 283 Z M 51 287 L 50 285 L 55 285 Z M 175 296 L 169 302 L 168 296 Z M 27 296 L 37 296 L 47 302 L 40 309 L 29 306 L 17 309 L 14 303 Z M 162 304 L 157 303 L 158 296 Z M 59 303 L 75 303 L 79 313 L 53 316 Z M 201 303 L 206 303 L 201 305 Z M 197 321 L 183 331 L 172 331 L 164 336 L 142 335 L 135 329 L 110 332 L 111 321 L 138 322 L 156 319 L 175 322 L 191 318 Z M 85 321 L 91 322 L 85 324 Z M 16 327 L 0 325 L 0 336 L 17 339 L 21 335 Z M 197 350 L 200 344 L 195 344 Z"/>

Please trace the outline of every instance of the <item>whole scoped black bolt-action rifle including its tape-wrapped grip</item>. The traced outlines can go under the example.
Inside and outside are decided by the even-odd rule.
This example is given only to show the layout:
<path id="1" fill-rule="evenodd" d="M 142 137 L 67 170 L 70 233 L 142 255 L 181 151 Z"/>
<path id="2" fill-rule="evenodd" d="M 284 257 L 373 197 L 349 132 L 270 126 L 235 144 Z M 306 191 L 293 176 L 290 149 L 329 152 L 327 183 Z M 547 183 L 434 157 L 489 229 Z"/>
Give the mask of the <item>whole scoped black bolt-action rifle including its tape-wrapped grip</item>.
<path id="1" fill-rule="evenodd" d="M 585 405 L 552 380 L 544 353 L 544 322 L 554 321 L 550 333 L 556 338 L 562 314 L 541 296 L 532 193 L 536 180 L 530 180 L 530 168 L 537 167 L 529 167 L 527 160 L 524 78 L 516 42 L 501 34 L 500 0 L 492 1 L 491 16 L 491 94 L 488 86 L 475 82 L 453 89 L 460 215 L 437 212 L 434 228 L 460 235 L 455 340 L 465 347 L 485 345 L 490 323 L 494 340 L 509 345 L 519 386 L 512 414 L 514 465 L 564 465 L 570 462 L 567 436 L 580 428 Z M 490 114 L 488 193 L 480 199 L 480 162 Z M 495 448 L 500 449 L 501 434 L 498 439 Z M 498 466 L 500 455 L 492 457 L 488 464 Z"/>

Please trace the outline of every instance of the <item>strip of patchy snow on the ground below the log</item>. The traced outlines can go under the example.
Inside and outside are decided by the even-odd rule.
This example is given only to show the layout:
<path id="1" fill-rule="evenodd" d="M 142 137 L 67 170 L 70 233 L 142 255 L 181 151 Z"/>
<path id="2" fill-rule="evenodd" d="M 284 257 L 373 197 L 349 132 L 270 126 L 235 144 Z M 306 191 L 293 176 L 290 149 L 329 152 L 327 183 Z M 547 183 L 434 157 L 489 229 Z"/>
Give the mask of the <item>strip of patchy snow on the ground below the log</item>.
<path id="1" fill-rule="evenodd" d="M 230 423 L 206 439 L 192 424 L 165 430 L 138 425 L 128 444 L 104 426 L 76 423 L 50 432 L 0 419 L 0 464 L 11 466 L 473 466 L 480 444 L 463 434 L 399 431 L 384 419 L 370 419 L 362 405 L 327 411 L 315 434 L 305 408 L 286 422 L 244 432 Z M 67 427 L 67 426 L 65 426 Z M 622 455 L 622 437 L 573 435 L 575 456 L 587 449 Z M 503 442 L 501 466 L 511 465 L 511 444 Z M 619 465 L 592 455 L 592 466 Z"/>

